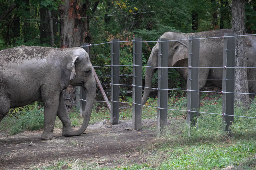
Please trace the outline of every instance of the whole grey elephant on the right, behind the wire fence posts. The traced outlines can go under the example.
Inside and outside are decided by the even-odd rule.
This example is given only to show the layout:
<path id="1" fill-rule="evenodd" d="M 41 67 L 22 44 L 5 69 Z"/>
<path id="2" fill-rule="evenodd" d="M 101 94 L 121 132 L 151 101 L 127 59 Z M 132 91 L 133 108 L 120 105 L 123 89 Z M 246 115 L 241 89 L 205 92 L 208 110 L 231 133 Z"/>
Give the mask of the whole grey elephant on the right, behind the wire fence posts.
<path id="1" fill-rule="evenodd" d="M 167 38 L 168 40 L 183 40 L 188 39 L 189 36 L 199 35 L 200 38 L 206 37 L 222 37 L 224 33 L 230 33 L 231 30 L 215 30 L 200 33 L 175 33 L 166 32 L 160 38 Z M 158 45 L 157 43 L 150 54 L 147 66 L 158 67 Z M 256 37 L 245 37 L 245 52 L 247 57 L 247 66 L 256 66 Z M 199 66 L 200 67 L 222 67 L 223 66 L 223 38 L 217 39 L 202 39 L 200 40 L 199 49 Z M 169 67 L 188 67 L 188 40 L 169 42 Z M 187 79 L 187 68 L 175 68 L 179 74 Z M 152 87 L 152 76 L 156 69 L 146 68 L 145 87 Z M 256 93 L 256 69 L 248 68 L 248 86 L 249 93 Z M 216 86 L 222 88 L 222 68 L 199 68 L 199 90 L 204 86 Z M 149 96 L 150 89 L 145 88 L 142 97 L 142 104 L 144 105 Z M 200 96 L 199 96 L 200 97 Z M 254 95 L 249 96 L 254 99 Z M 199 98 L 200 99 L 200 98 Z M 200 103 L 200 102 L 199 102 Z"/>

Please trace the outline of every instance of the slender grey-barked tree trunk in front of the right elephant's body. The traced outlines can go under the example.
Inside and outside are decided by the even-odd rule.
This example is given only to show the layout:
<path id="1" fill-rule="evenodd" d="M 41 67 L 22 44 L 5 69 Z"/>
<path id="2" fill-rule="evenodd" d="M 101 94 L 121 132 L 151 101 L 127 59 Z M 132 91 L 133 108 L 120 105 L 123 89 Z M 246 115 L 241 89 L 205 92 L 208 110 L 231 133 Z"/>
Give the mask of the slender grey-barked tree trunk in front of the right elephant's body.
<path id="1" fill-rule="evenodd" d="M 232 0 L 232 32 L 237 35 L 245 35 L 245 1 Z M 246 67 L 244 37 L 237 38 L 235 66 Z M 235 70 L 235 93 L 248 93 L 247 68 Z M 250 105 L 248 94 L 235 94 L 235 103 L 238 107 L 248 108 Z"/>

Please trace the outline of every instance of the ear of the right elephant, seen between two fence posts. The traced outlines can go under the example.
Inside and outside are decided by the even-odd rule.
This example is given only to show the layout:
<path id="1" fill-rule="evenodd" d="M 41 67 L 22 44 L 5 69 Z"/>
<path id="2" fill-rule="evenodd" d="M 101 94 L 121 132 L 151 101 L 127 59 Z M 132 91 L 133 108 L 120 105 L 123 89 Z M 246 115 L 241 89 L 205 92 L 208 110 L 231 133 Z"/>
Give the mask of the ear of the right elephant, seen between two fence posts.
<path id="1" fill-rule="evenodd" d="M 182 42 L 175 42 L 174 51 L 173 51 L 173 59 L 172 65 L 174 65 L 177 61 L 188 58 L 188 47 L 186 44 Z"/>

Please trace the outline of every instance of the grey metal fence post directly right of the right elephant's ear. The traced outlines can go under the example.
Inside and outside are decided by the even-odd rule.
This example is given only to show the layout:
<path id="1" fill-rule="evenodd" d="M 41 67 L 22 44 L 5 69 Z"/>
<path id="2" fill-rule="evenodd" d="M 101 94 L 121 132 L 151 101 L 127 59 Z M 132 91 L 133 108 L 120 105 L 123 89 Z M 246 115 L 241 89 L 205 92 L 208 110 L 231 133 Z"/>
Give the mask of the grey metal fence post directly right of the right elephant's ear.
<path id="1" fill-rule="evenodd" d="M 188 92 L 187 92 L 187 123 L 189 127 L 196 125 L 195 116 L 198 117 L 198 105 L 199 105 L 199 36 L 189 36 L 189 47 L 188 47 Z M 196 39 L 196 40 L 193 40 Z M 191 68 L 192 67 L 192 68 Z M 193 68 L 197 67 L 197 68 Z"/>

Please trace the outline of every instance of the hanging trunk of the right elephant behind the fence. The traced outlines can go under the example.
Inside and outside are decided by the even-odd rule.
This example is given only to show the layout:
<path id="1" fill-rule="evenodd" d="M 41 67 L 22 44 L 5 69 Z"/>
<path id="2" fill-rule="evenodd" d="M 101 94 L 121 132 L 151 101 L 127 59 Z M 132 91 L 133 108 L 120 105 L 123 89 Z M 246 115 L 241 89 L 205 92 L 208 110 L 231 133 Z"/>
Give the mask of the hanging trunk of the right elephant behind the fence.
<path id="1" fill-rule="evenodd" d="M 141 100 L 142 105 L 145 105 L 145 103 L 148 99 L 148 96 L 150 93 L 150 88 L 152 87 L 152 78 L 153 78 L 154 72 L 155 72 L 155 68 L 147 67 L 146 74 L 145 74 L 145 88 L 144 88 L 144 93 L 143 93 L 143 97 Z M 149 87 L 149 88 L 147 88 L 147 87 Z"/>

